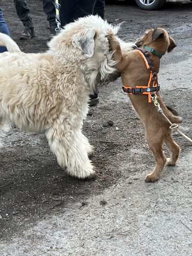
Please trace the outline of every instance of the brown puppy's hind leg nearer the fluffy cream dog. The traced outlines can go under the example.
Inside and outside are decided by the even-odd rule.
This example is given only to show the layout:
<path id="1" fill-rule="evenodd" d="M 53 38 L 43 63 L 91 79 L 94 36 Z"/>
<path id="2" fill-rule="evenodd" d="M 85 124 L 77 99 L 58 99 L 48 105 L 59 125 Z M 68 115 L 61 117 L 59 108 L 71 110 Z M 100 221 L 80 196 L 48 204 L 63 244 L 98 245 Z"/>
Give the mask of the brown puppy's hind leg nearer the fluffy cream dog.
<path id="1" fill-rule="evenodd" d="M 163 168 L 165 167 L 167 161 L 167 158 L 163 154 L 162 150 L 163 139 L 161 134 L 158 134 L 158 137 L 156 137 L 153 136 L 153 132 L 151 132 L 149 134 L 146 134 L 146 140 L 156 159 L 156 167 L 151 173 L 147 174 L 144 181 L 156 182 L 161 172 L 163 171 Z"/>

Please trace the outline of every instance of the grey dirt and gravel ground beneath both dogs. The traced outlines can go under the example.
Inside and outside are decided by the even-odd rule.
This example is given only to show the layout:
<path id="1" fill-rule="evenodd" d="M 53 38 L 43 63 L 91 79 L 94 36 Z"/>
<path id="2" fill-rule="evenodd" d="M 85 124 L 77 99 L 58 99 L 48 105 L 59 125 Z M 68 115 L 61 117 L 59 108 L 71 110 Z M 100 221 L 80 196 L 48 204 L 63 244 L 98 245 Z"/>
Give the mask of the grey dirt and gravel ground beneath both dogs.
<path id="1" fill-rule="evenodd" d="M 23 51 L 45 51 L 48 23 L 42 2 L 28 3 L 37 37 L 26 42 L 18 40 L 23 25 L 12 2 L 0 0 L 0 7 Z M 107 5 L 106 19 L 126 21 L 122 39 L 133 40 L 156 26 L 176 39 L 178 47 L 161 61 L 161 95 L 179 110 L 180 128 L 192 137 L 192 4 L 167 3 L 154 12 L 134 3 Z M 1 256 L 192 255 L 192 145 L 174 133 L 182 149 L 178 165 L 167 167 L 157 183 L 144 183 L 155 162 L 120 79 L 103 87 L 99 99 L 84 122 L 84 134 L 95 147 L 95 181 L 69 177 L 44 134 L 13 129 L 5 137 L 0 149 Z"/>

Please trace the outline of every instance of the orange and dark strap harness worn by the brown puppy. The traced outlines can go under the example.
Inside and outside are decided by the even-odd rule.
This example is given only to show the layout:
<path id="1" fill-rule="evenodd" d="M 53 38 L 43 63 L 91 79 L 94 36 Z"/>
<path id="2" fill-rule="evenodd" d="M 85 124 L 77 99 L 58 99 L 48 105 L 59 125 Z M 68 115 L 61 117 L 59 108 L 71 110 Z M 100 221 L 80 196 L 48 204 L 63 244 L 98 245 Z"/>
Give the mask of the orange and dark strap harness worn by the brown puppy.
<path id="1" fill-rule="evenodd" d="M 123 91 L 128 94 L 148 94 L 148 102 L 151 102 L 151 97 L 154 97 L 156 92 L 159 91 L 160 85 L 156 82 L 157 81 L 157 73 L 155 72 L 155 68 L 153 67 L 153 63 L 149 58 L 149 52 L 138 48 L 135 49 L 137 53 L 141 55 L 143 58 L 146 68 L 151 70 L 150 78 L 147 86 L 139 86 L 136 85 L 135 88 L 130 86 L 122 87 Z"/>

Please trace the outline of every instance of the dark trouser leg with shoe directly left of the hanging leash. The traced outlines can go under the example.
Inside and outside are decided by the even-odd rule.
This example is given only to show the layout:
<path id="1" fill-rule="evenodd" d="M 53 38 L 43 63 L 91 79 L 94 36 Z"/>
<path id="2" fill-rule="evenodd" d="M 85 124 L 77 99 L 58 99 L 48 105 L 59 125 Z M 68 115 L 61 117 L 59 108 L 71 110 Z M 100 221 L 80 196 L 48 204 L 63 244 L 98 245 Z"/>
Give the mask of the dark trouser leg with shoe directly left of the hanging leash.
<path id="1" fill-rule="evenodd" d="M 55 21 L 55 5 L 53 3 L 53 0 L 43 0 L 43 10 L 47 14 L 48 23 L 50 27 L 50 39 L 52 36 L 56 35 L 55 28 L 57 27 L 57 23 Z"/>

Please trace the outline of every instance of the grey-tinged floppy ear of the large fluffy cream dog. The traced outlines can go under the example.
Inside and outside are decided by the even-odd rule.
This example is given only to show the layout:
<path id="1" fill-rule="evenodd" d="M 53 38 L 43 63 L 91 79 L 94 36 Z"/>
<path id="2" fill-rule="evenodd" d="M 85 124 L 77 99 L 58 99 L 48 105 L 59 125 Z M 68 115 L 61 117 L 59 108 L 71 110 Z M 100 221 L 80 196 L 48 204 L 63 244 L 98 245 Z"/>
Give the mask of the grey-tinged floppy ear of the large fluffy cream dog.
<path id="1" fill-rule="evenodd" d="M 86 57 L 92 57 L 94 54 L 96 31 L 93 29 L 80 30 L 72 37 L 74 47 L 80 49 Z"/>

